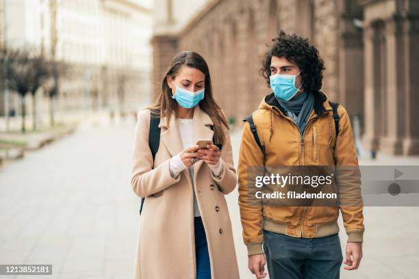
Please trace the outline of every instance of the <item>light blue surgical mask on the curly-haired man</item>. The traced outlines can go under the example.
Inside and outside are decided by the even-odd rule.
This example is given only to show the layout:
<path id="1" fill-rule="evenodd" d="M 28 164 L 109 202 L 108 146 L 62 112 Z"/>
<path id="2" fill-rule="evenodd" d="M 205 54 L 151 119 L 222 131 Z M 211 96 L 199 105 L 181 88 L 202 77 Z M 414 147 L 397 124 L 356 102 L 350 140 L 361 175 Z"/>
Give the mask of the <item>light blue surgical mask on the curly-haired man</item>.
<path id="1" fill-rule="evenodd" d="M 277 98 L 281 98 L 284 101 L 290 101 L 292 97 L 294 97 L 295 94 L 300 91 L 301 85 L 303 85 L 303 83 L 301 83 L 299 88 L 295 87 L 295 79 L 296 76 L 300 75 L 300 72 L 296 75 L 277 74 L 271 75 L 269 77 L 270 88 L 272 88 Z"/>

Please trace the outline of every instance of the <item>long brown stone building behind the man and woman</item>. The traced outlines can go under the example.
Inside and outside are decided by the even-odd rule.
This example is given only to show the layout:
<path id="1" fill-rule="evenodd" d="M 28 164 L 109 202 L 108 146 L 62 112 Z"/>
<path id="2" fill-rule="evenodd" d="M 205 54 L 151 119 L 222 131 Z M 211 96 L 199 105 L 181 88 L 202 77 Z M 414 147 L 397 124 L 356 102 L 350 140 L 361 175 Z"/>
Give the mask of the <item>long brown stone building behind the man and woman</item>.
<path id="1" fill-rule="evenodd" d="M 153 94 L 177 51 L 201 53 L 216 101 L 236 123 L 270 92 L 259 55 L 279 29 L 325 60 L 322 91 L 360 120 L 364 148 L 419 154 L 419 1 L 155 0 Z"/>

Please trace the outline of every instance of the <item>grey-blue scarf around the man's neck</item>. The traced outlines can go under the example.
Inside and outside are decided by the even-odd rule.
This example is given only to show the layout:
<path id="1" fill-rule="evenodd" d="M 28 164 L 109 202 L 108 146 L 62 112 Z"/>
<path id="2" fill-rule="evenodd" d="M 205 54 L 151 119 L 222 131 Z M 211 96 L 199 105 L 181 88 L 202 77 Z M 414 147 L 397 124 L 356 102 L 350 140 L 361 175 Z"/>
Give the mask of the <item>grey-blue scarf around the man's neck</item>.
<path id="1" fill-rule="evenodd" d="M 290 101 L 284 101 L 281 98 L 277 98 L 277 101 L 285 109 L 287 115 L 297 124 L 301 135 L 303 135 L 307 120 L 313 110 L 314 94 L 303 92 Z"/>

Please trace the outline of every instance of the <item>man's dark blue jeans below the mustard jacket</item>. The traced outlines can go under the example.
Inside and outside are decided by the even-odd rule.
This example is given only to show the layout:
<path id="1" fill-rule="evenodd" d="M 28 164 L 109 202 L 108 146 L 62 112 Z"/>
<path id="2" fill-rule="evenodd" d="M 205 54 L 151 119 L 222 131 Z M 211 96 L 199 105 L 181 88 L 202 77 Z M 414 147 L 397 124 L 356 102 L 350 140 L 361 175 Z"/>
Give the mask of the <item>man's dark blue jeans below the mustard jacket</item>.
<path id="1" fill-rule="evenodd" d="M 338 234 L 310 239 L 263 233 L 270 279 L 339 278 L 343 257 Z"/>

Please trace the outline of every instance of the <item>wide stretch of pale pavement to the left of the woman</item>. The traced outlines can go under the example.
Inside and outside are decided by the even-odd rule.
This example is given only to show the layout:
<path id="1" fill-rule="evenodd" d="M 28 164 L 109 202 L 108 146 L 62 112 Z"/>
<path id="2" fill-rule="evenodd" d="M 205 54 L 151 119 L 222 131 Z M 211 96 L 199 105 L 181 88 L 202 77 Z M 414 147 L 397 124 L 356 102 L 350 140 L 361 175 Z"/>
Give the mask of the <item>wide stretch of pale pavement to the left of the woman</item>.
<path id="1" fill-rule="evenodd" d="M 49 263 L 48 278 L 131 278 L 134 124 L 102 124 L 86 123 L 0 169 L 0 263 Z"/>

